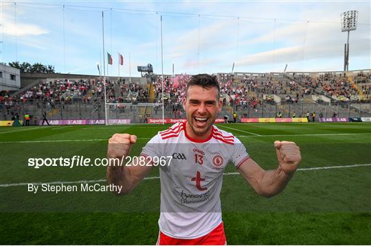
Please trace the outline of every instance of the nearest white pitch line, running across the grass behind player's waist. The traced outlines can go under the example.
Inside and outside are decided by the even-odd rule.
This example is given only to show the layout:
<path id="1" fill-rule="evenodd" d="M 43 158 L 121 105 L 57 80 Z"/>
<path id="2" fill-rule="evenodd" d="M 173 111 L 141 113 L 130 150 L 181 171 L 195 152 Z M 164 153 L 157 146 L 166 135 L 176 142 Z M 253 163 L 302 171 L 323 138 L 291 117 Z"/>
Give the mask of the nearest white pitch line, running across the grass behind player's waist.
<path id="1" fill-rule="evenodd" d="M 345 165 L 345 166 L 333 166 L 333 167 L 311 167 L 308 169 L 297 169 L 297 171 L 313 171 L 313 170 L 322 170 L 322 169 L 344 169 L 350 167 L 367 167 L 371 166 L 371 163 L 368 164 L 354 164 L 354 165 Z M 223 173 L 223 175 L 238 175 L 240 173 Z M 158 176 L 153 177 L 144 177 L 144 180 L 159 180 Z M 14 184 L 0 184 L 0 187 L 11 187 L 11 186 L 27 186 L 28 184 L 41 185 L 41 184 L 87 184 L 87 183 L 103 183 L 106 180 L 78 180 L 78 181 L 54 181 L 54 182 L 38 182 L 38 183 L 14 183 Z"/>

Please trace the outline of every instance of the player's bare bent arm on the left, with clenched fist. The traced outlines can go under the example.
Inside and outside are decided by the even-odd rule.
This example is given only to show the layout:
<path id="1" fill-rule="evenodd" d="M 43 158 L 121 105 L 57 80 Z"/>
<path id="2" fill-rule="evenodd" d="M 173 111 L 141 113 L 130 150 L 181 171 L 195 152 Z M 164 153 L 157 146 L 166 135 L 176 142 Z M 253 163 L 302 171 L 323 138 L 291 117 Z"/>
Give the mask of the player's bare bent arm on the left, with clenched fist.
<path id="1" fill-rule="evenodd" d="M 131 146 L 136 143 L 136 141 L 137 136 L 135 135 L 114 134 L 109 138 L 107 158 L 117 158 L 117 160 L 126 158 L 131 151 Z M 107 183 L 122 187 L 121 192 L 115 193 L 115 195 L 125 195 L 130 193 L 131 190 L 133 190 L 135 186 L 137 186 L 137 184 L 148 175 L 150 169 L 152 169 L 152 166 L 147 164 L 139 165 L 137 161 L 138 158 L 133 158 L 133 162 L 129 165 L 119 166 L 111 164 L 107 167 Z"/>

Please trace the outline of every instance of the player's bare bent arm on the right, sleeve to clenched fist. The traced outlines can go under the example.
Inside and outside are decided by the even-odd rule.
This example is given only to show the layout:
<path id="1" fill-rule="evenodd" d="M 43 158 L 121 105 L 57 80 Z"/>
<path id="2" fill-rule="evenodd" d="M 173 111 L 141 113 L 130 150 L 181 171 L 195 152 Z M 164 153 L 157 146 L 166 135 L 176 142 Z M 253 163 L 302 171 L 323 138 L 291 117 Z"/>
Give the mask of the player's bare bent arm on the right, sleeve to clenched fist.
<path id="1" fill-rule="evenodd" d="M 300 149 L 293 142 L 276 141 L 278 168 L 265 171 L 251 158 L 240 164 L 238 171 L 251 184 L 256 193 L 273 197 L 280 193 L 293 177 L 302 157 Z"/>

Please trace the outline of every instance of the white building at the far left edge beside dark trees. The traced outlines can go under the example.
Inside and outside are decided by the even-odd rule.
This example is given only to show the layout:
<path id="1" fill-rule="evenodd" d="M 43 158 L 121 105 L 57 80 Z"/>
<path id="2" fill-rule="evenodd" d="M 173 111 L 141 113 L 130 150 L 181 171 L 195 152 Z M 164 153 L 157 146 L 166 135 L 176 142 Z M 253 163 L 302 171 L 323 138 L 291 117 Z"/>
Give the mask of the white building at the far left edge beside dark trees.
<path id="1" fill-rule="evenodd" d="M 12 66 L 0 63 L 0 91 L 19 90 L 21 88 L 21 72 Z"/>

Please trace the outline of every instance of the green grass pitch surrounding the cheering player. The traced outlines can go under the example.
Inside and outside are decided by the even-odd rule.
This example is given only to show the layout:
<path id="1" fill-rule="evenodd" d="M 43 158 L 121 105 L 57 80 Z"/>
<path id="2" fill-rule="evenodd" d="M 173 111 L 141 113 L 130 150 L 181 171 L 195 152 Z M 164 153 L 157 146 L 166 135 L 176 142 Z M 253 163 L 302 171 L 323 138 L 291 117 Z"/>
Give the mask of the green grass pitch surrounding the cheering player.
<path id="1" fill-rule="evenodd" d="M 104 180 L 104 167 L 27 167 L 28 158 L 104 158 L 114 133 L 135 134 L 133 154 L 169 125 L 0 128 L 0 244 L 153 245 L 159 228 L 159 180 L 129 195 L 27 192 L 21 183 Z M 371 124 L 221 124 L 264 169 L 277 167 L 274 140 L 300 146 L 289 186 L 260 197 L 240 175 L 225 175 L 221 201 L 229 245 L 370 245 Z M 355 167 L 346 167 L 359 165 Z M 315 167 L 335 167 L 313 169 Z M 234 173 L 229 165 L 225 173 Z M 158 176 L 158 169 L 148 175 Z M 103 183 L 102 183 L 103 184 Z"/>

